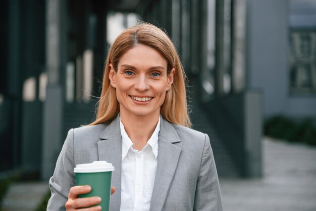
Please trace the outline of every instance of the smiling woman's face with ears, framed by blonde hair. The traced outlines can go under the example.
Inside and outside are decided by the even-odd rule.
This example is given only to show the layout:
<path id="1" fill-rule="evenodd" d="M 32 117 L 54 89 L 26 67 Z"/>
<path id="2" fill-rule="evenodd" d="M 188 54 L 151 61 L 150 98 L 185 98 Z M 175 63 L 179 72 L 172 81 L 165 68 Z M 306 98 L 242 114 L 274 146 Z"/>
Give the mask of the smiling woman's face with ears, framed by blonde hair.
<path id="1" fill-rule="evenodd" d="M 172 69 L 167 74 L 167 60 L 144 45 L 127 51 L 119 60 L 117 71 L 110 64 L 109 78 L 116 88 L 121 115 L 159 116 L 174 73 Z"/>

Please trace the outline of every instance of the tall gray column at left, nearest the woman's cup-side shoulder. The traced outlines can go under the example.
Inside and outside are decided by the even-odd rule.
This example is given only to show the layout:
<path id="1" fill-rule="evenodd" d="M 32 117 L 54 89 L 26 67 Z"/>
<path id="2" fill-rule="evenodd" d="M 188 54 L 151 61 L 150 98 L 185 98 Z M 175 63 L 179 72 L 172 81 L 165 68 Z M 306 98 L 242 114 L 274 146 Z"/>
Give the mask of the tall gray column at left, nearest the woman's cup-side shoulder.
<path id="1" fill-rule="evenodd" d="M 62 106 L 62 0 L 46 0 L 46 73 L 48 84 L 43 110 L 43 143 L 41 178 L 48 179 L 54 172 L 61 149 Z"/>

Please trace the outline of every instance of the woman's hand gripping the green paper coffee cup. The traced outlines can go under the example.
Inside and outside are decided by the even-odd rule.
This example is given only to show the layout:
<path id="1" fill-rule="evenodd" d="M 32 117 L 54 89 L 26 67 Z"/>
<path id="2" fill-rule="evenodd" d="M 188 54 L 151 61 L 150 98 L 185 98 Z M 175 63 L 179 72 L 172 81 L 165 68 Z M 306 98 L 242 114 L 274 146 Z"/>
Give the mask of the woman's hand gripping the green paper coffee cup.
<path id="1" fill-rule="evenodd" d="M 91 191 L 91 187 L 88 185 L 83 186 L 74 186 L 70 188 L 68 194 L 68 201 L 66 202 L 66 210 L 72 211 L 80 209 L 81 211 L 98 211 L 101 210 L 101 206 L 93 206 L 101 202 L 101 198 L 98 196 L 94 197 L 85 197 L 85 198 L 78 198 L 78 195 L 89 193 Z M 115 187 L 111 187 L 111 194 L 115 192 Z M 89 207 L 92 206 L 92 207 Z M 81 209 L 82 207 L 87 207 Z"/>

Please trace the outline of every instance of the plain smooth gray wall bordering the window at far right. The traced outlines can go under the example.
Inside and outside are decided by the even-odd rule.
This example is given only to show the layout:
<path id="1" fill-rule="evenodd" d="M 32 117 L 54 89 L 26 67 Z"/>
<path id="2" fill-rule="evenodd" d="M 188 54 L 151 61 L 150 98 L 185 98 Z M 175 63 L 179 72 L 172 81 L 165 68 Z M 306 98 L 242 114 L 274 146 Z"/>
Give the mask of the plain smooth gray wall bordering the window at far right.
<path id="1" fill-rule="evenodd" d="M 247 86 L 264 94 L 264 116 L 316 117 L 316 98 L 289 93 L 288 1 L 249 0 Z"/>

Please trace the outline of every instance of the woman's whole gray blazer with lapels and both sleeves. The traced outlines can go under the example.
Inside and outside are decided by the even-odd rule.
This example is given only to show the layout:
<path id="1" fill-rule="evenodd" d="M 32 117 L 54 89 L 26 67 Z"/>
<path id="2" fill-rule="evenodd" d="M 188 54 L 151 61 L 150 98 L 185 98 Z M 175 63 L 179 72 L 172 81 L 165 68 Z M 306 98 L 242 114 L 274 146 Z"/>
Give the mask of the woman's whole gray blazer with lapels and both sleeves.
<path id="1" fill-rule="evenodd" d="M 223 210 L 215 161 L 206 134 L 161 118 L 157 170 L 150 211 Z M 110 210 L 121 204 L 122 136 L 119 117 L 109 124 L 71 129 L 49 180 L 47 210 L 65 210 L 69 189 L 76 185 L 74 166 L 106 160 L 115 166 Z"/>

